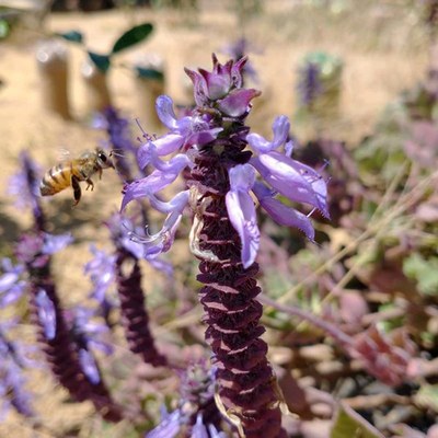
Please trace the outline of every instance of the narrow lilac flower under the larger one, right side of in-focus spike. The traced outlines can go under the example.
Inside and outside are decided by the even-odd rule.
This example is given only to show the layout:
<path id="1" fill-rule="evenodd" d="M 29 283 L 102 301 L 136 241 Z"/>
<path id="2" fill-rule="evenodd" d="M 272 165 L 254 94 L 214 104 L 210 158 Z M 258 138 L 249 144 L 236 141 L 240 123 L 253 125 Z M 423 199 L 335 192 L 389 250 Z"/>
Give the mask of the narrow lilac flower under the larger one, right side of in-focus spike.
<path id="1" fill-rule="evenodd" d="M 287 207 L 278 199 L 273 197 L 272 191 L 265 185 L 256 183 L 253 192 L 257 197 L 261 206 L 268 212 L 268 215 L 279 224 L 286 227 L 295 227 L 301 230 L 309 240 L 314 239 L 314 229 L 310 219 L 295 208 Z"/>

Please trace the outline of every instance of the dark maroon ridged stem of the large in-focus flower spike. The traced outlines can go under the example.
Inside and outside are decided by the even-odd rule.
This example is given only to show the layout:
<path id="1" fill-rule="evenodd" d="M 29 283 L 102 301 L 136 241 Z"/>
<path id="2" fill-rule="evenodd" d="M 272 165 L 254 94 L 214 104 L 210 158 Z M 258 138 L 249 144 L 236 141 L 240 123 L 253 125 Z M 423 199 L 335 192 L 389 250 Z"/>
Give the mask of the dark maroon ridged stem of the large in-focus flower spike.
<path id="1" fill-rule="evenodd" d="M 208 327 L 206 339 L 215 354 L 219 395 L 230 414 L 238 415 L 246 438 L 286 437 L 275 390 L 275 376 L 267 361 L 267 345 L 261 339 L 263 308 L 255 299 L 261 292 L 255 280 L 258 266 L 244 269 L 241 243 L 228 218 L 224 196 L 229 189 L 227 163 L 247 162 L 243 125 L 234 124 L 228 145 L 206 146 L 196 158 L 191 185 L 209 199 L 195 207 L 201 212 L 200 250 L 212 252 L 222 263 L 204 260 L 197 279 Z M 219 151 L 219 152 L 218 152 Z"/>

